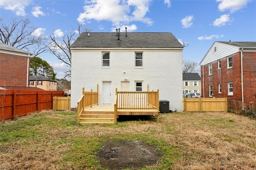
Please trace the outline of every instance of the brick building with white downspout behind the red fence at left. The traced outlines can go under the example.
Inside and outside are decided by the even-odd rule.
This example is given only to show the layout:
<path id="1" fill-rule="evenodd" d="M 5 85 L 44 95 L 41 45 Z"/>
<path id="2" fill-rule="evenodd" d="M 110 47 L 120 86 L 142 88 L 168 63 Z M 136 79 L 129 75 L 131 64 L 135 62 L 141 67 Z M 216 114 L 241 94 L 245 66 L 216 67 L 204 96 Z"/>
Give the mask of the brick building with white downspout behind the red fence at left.
<path id="1" fill-rule="evenodd" d="M 0 87 L 28 87 L 31 54 L 0 43 Z"/>

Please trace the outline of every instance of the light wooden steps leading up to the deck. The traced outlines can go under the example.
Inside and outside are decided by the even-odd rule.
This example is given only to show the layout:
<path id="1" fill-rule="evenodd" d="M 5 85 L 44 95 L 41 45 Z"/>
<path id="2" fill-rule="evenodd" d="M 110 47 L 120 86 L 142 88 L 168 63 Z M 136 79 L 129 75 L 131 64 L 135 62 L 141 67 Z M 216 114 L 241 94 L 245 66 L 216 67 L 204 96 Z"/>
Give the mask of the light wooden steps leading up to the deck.
<path id="1" fill-rule="evenodd" d="M 79 118 L 79 123 L 109 123 L 114 124 L 114 112 L 108 111 L 83 111 Z"/>

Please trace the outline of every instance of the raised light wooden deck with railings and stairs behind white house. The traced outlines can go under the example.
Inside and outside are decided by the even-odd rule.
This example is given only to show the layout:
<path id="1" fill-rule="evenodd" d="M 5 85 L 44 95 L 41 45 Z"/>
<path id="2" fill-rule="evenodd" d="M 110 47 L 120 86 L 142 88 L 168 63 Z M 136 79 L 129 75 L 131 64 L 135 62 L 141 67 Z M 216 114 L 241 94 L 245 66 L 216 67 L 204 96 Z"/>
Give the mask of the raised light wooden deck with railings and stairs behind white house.
<path id="1" fill-rule="evenodd" d="M 159 122 L 159 90 L 118 91 L 114 105 L 98 105 L 97 92 L 82 90 L 77 102 L 77 123 L 113 123 L 120 115 L 154 115 Z"/>

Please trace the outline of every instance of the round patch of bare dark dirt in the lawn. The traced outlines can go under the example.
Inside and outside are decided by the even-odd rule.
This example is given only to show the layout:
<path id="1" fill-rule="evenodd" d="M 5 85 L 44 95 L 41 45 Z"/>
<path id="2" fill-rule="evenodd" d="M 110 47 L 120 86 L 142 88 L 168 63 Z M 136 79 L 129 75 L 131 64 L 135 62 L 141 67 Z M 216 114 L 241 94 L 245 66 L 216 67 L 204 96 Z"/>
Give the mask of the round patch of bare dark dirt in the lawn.
<path id="1" fill-rule="evenodd" d="M 145 144 L 138 140 L 108 140 L 102 149 L 96 152 L 101 166 L 111 170 L 156 166 L 162 155 L 162 150 L 157 149 L 156 145 Z"/>

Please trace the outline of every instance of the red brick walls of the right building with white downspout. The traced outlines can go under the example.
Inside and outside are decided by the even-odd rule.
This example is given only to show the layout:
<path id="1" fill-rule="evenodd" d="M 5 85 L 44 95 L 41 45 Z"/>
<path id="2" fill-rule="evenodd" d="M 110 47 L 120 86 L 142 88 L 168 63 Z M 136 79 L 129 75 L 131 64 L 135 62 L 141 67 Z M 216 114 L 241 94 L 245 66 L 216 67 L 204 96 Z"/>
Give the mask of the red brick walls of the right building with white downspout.
<path id="1" fill-rule="evenodd" d="M 254 102 L 256 94 L 256 53 L 243 52 L 243 81 L 244 102 Z M 218 69 L 217 61 L 212 62 L 212 75 L 208 75 L 208 65 L 201 66 L 202 96 L 209 97 L 209 85 L 213 86 L 215 97 L 227 97 L 229 101 L 242 101 L 241 87 L 241 53 L 235 53 L 232 57 L 232 68 L 227 69 L 227 57 L 221 59 L 221 68 Z M 228 83 L 233 83 L 233 95 L 228 95 Z M 222 85 L 222 93 L 218 93 L 218 84 Z"/>

